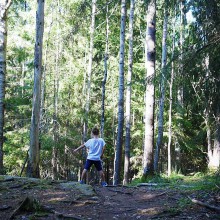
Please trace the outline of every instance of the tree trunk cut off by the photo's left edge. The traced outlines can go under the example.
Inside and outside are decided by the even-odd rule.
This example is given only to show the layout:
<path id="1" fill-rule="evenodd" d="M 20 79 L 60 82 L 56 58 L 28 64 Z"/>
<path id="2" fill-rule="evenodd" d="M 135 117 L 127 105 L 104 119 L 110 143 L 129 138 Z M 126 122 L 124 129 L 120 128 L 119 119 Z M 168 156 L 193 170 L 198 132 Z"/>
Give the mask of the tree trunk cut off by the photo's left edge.
<path id="1" fill-rule="evenodd" d="M 0 3 L 0 174 L 4 174 L 3 143 L 4 143 L 4 112 L 5 112 L 5 76 L 7 47 L 7 11 L 11 5 L 9 0 Z"/>

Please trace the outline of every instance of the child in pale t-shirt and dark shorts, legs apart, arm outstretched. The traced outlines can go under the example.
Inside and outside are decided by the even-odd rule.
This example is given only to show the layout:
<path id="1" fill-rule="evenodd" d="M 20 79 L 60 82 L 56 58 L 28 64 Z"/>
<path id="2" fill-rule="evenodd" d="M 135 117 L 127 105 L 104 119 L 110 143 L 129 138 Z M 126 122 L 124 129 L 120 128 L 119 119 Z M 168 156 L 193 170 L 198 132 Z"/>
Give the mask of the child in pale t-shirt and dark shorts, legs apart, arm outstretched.
<path id="1" fill-rule="evenodd" d="M 99 129 L 98 128 L 93 128 L 92 129 L 92 138 L 89 139 L 86 143 L 82 144 L 77 149 L 73 150 L 73 152 L 76 152 L 76 151 L 82 149 L 83 147 L 86 147 L 89 151 L 88 151 L 88 155 L 87 155 L 84 169 L 82 171 L 80 183 L 84 184 L 84 181 L 83 181 L 84 177 L 85 177 L 87 171 L 89 171 L 90 167 L 94 164 L 98 173 L 99 173 L 99 176 L 101 177 L 101 185 L 107 186 L 107 183 L 105 182 L 105 175 L 103 172 L 102 161 L 101 161 L 101 157 L 102 157 L 102 155 L 104 153 L 104 149 L 105 149 L 105 141 L 102 138 L 99 138 Z"/>

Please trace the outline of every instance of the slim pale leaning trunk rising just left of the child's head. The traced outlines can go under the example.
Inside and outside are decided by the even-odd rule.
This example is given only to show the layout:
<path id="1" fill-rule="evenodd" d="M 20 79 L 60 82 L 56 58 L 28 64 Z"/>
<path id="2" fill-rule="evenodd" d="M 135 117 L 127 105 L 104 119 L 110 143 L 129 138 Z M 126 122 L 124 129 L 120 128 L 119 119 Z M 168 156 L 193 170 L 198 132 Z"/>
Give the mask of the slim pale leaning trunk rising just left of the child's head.
<path id="1" fill-rule="evenodd" d="M 83 131 L 83 141 L 87 141 L 88 133 L 88 117 L 90 106 L 90 93 L 91 93 L 91 77 L 92 77 L 92 59 L 93 59 L 93 44 L 94 44 L 94 32 L 95 32 L 95 14 L 96 14 L 96 0 L 92 0 L 92 20 L 90 26 L 90 46 L 89 46 L 89 64 L 88 64 L 88 78 L 87 78 L 87 95 L 86 95 L 86 109 L 85 109 L 85 121 Z"/>

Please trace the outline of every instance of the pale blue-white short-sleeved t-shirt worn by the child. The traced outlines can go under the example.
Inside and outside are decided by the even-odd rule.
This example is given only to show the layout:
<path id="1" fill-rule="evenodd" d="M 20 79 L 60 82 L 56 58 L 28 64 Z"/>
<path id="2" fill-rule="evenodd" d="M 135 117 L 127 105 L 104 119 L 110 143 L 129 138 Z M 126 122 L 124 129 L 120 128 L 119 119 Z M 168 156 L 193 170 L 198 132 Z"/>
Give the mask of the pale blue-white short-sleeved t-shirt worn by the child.
<path id="1" fill-rule="evenodd" d="M 102 138 L 92 138 L 85 143 L 86 148 L 89 149 L 87 159 L 100 160 L 102 150 L 105 146 L 105 141 Z"/>

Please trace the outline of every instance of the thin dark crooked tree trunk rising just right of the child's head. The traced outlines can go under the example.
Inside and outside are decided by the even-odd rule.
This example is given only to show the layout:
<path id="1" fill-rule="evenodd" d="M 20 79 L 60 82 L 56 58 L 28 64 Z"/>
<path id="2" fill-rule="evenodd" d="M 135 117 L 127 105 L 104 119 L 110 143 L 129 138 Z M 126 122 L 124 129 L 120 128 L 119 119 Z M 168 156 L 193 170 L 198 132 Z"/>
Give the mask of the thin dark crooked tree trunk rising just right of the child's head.
<path id="1" fill-rule="evenodd" d="M 106 39 L 105 39 L 105 57 L 104 57 L 104 78 L 102 81 L 102 116 L 101 116 L 101 137 L 104 138 L 104 124 L 105 124 L 105 85 L 108 76 L 108 2 L 106 2 Z"/>

